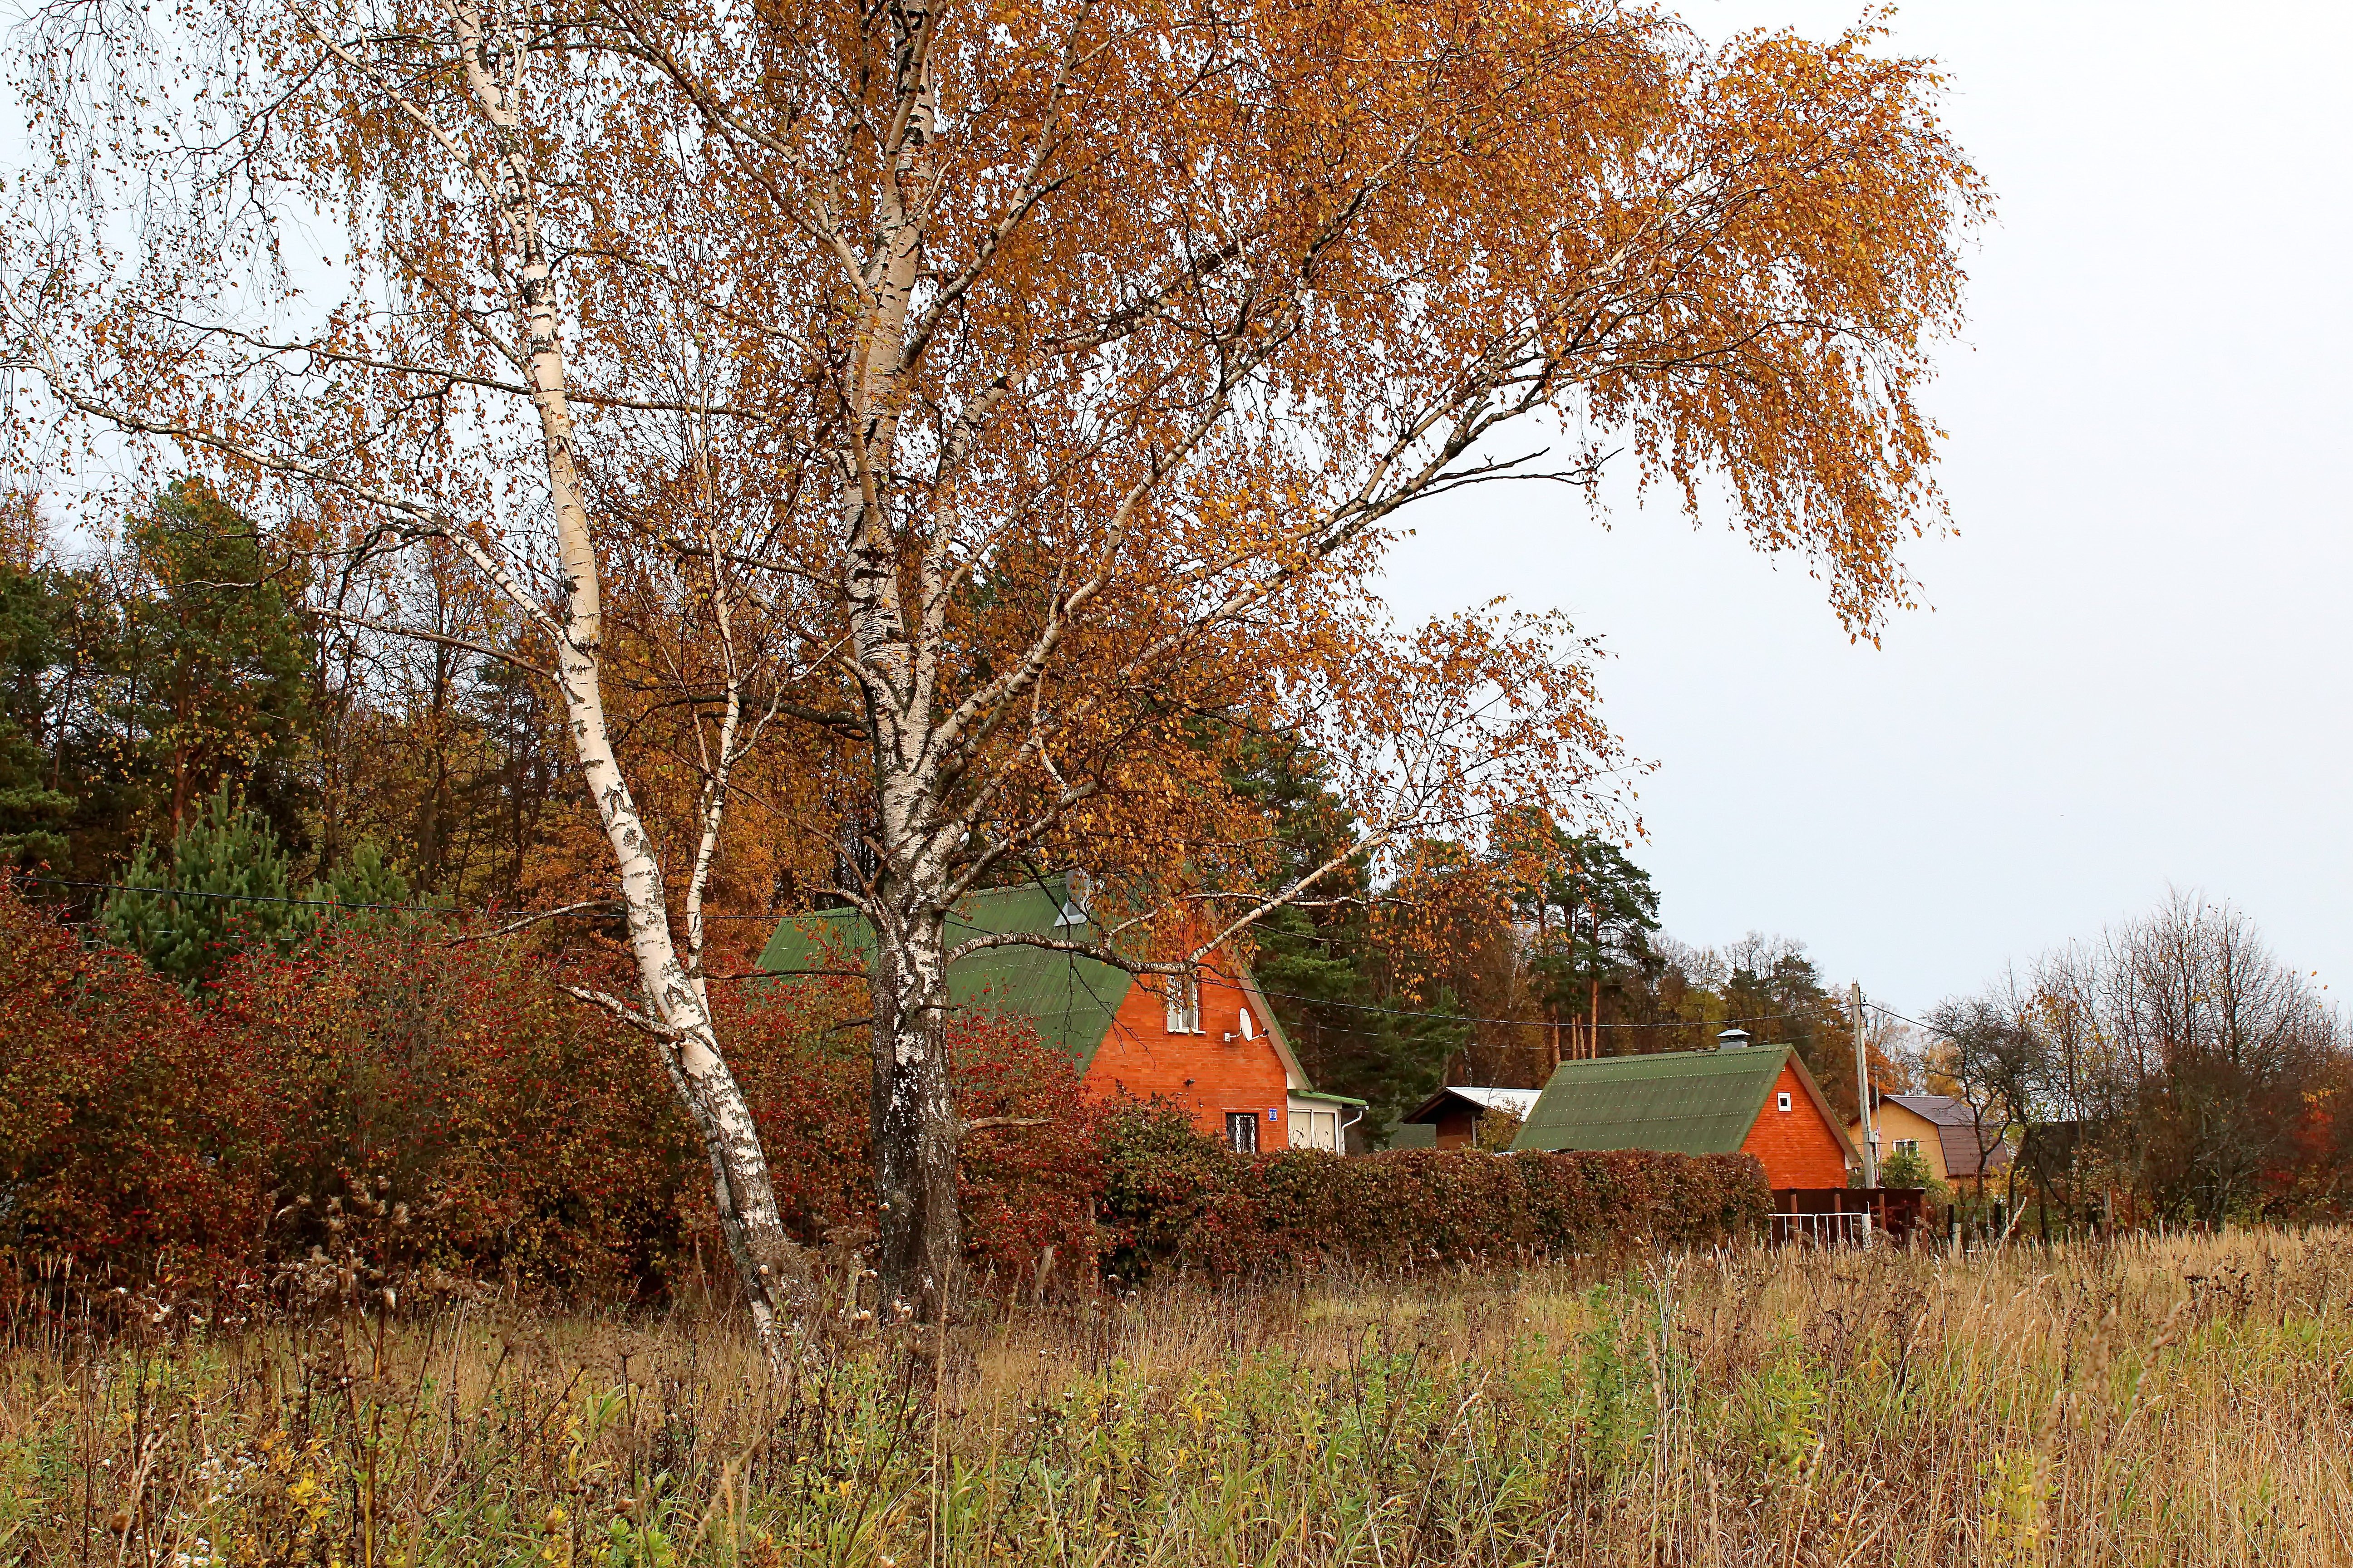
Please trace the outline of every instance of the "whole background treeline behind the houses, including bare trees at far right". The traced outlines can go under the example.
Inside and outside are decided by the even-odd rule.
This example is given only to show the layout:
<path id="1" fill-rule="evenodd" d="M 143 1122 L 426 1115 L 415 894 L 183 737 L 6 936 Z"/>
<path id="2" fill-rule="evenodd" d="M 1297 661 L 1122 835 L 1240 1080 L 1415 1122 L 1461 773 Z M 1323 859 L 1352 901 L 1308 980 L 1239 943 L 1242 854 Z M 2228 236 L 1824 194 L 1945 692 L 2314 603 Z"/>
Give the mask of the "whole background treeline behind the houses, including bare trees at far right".
<path id="1" fill-rule="evenodd" d="M 452 630 L 431 642 L 336 618 L 336 588 L 299 541 L 266 541 L 195 482 L 99 541 L 12 517 L 0 853 L 19 891 L 184 987 L 245 950 L 292 954 L 334 919 L 322 905 L 593 900 L 605 846 L 496 607 L 435 581 L 426 557 L 384 592 L 435 607 Z M 626 595 L 621 625 L 616 644 L 645 654 Z M 654 672 L 635 691 L 624 736 L 659 813 L 666 752 L 689 731 L 666 722 Z M 1311 750 L 1261 738 L 1231 755 L 1228 783 L 1273 846 L 1259 886 L 1362 839 Z M 769 914 L 807 903 L 793 846 L 746 837 L 718 879 L 732 919 L 715 945 L 736 969 Z M 513 940 L 609 954 L 616 922 L 579 914 Z M 1348 858 L 1252 943 L 1308 1072 L 1369 1100 L 1374 1133 L 1440 1081 L 1534 1086 L 1558 1058 L 1697 1048 L 1729 1025 L 1795 1044 L 1854 1114 L 1849 999 L 1802 943 L 1678 943 L 1621 844 L 1537 813 L 1379 865 Z M 2122 1190 L 2195 1215 L 2341 1197 L 2344 1030 L 2238 910 L 2174 900 L 1922 1023 L 1866 1009 L 1873 1081 L 1967 1098 L 2021 1147 L 2035 1190 Z"/>

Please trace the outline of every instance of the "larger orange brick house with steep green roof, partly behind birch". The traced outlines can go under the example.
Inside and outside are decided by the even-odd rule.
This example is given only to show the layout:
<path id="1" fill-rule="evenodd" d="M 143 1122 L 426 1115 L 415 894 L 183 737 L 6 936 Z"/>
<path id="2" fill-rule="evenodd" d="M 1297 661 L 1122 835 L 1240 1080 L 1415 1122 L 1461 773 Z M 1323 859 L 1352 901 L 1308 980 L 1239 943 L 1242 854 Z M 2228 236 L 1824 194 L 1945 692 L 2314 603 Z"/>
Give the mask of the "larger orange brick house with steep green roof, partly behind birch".
<path id="1" fill-rule="evenodd" d="M 1047 877 L 974 893 L 948 940 L 974 931 L 1099 936 L 1082 882 Z M 776 926 L 760 969 L 791 973 L 859 961 L 873 931 L 854 910 L 821 910 Z M 948 971 L 955 1006 L 1031 1023 L 1066 1051 L 1085 1093 L 1165 1098 L 1228 1147 L 1346 1152 L 1362 1100 L 1318 1093 L 1259 983 L 1242 964 L 1202 964 L 1191 978 L 1136 978 L 1115 964 L 1042 947 L 988 947 Z"/>

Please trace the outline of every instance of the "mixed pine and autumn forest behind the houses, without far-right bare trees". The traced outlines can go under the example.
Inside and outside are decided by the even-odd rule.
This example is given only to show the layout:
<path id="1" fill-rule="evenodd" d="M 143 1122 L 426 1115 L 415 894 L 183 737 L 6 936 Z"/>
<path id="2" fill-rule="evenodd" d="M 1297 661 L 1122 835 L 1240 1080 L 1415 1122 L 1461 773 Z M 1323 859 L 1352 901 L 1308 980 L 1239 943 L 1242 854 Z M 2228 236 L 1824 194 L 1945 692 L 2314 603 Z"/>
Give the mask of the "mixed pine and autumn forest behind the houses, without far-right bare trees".
<path id="1" fill-rule="evenodd" d="M 376 592 L 431 607 L 445 642 L 336 618 L 348 583 L 198 482 L 104 541 L 45 538 L 31 515 L 16 524 L 0 559 L 0 849 L 24 875 L 56 879 L 24 882 L 26 893 L 151 957 L 160 938 L 144 933 L 198 929 L 158 959 L 191 978 L 207 952 L 287 947 L 315 924 L 299 905 L 238 914 L 231 893 L 536 910 L 602 891 L 607 851 L 572 799 L 551 705 L 508 656 L 515 628 L 431 555 Z M 645 656 L 626 595 L 619 609 L 616 646 Z M 687 731 L 666 717 L 659 675 L 635 691 L 626 745 L 659 785 Z M 1240 748 L 1231 783 L 1275 844 L 1254 867 L 1264 889 L 1362 837 L 1306 748 Z M 649 795 L 661 811 L 661 790 Z M 736 966 L 765 938 L 753 917 L 800 907 L 809 882 L 793 875 L 798 846 L 762 851 L 760 837 L 753 825 L 720 879 L 736 919 L 715 940 Z M 1741 1018 L 1769 1018 L 1774 1039 L 1798 1039 L 1819 1065 L 1852 1048 L 1845 1004 L 1800 945 L 1673 943 L 1647 872 L 1602 835 L 1518 816 L 1480 844 L 1424 842 L 1405 865 L 1400 877 L 1358 856 L 1254 933 L 1311 1074 L 1369 1100 L 1377 1124 L 1447 1074 L 1539 1081 L 1555 1041 L 1584 1048 L 1595 1006 L 1605 1053 L 1687 1048 Z M 92 886 L 122 882 L 221 898 L 162 922 L 155 898 Z M 532 940 L 598 938 L 598 922 L 569 919 Z M 1852 1105 L 1852 1072 L 1821 1077 Z"/>

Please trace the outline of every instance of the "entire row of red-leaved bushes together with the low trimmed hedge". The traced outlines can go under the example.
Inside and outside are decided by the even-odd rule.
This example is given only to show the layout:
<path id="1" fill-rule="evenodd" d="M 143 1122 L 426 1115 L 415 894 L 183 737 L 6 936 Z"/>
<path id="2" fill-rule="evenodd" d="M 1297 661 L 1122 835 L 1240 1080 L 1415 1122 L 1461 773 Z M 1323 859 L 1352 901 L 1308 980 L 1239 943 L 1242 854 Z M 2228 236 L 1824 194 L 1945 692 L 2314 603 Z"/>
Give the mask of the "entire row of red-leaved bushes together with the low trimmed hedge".
<path id="1" fill-rule="evenodd" d="M 445 936 L 344 929 L 296 959 L 240 959 L 191 1001 L 0 889 L 16 957 L 0 1244 L 224 1288 L 313 1246 L 341 1255 L 367 1208 L 400 1218 L 416 1262 L 565 1293 L 656 1295 L 718 1260 L 708 1164 L 654 1046 L 560 994 L 546 957 Z M 786 1222 L 812 1246 L 873 1229 L 864 1001 L 845 980 L 720 997 Z M 958 1105 L 998 1121 L 967 1135 L 962 1168 L 984 1284 L 1028 1279 L 1047 1246 L 1080 1276 L 1106 1253 L 1122 1276 L 1473 1262 L 1706 1244 L 1769 1208 L 1746 1157 L 1242 1159 L 1172 1107 L 1089 1105 L 1026 1025 L 948 1027 Z"/>

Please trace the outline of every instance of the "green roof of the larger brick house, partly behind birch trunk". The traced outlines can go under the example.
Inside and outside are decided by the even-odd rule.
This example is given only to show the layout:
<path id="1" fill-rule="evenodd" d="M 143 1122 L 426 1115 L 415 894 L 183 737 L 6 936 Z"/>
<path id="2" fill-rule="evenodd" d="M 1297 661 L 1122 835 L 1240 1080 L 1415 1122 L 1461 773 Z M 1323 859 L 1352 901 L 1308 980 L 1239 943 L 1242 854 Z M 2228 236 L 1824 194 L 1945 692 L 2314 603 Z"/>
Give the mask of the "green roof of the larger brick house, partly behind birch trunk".
<path id="1" fill-rule="evenodd" d="M 1068 903 L 1068 879 L 1045 877 L 967 896 L 948 917 L 948 945 L 981 931 L 1033 931 L 1099 940 L 1101 931 Z M 1075 924 L 1064 922 L 1078 917 Z M 875 933 L 856 910 L 793 914 L 760 952 L 760 969 L 864 969 Z M 986 947 L 948 969 L 948 1001 L 1026 1018 L 1045 1044 L 1068 1053 L 1080 1072 L 1111 1032 L 1111 1018 L 1136 980 L 1125 969 L 1042 947 Z"/>

